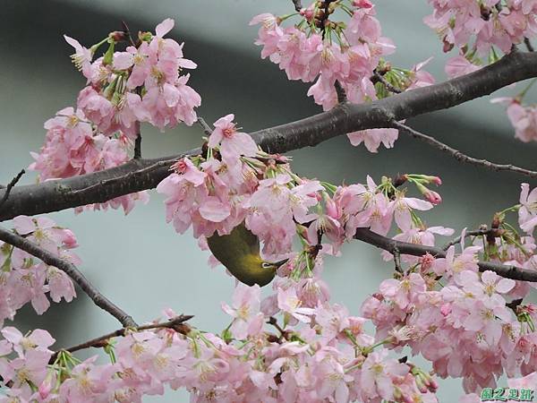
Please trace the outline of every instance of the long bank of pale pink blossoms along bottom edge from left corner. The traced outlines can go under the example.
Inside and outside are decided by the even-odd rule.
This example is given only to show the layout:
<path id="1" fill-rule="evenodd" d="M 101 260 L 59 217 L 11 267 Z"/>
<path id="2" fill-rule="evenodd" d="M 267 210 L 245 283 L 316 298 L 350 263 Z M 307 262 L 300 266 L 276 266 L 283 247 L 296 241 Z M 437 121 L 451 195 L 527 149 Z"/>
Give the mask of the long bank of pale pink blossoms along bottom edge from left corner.
<path id="1" fill-rule="evenodd" d="M 189 390 L 198 402 L 437 402 L 431 375 L 388 356 L 382 343 L 374 345 L 364 332 L 365 319 L 324 299 L 316 309 L 298 307 L 302 288 L 281 289 L 274 307 L 293 325 L 282 328 L 268 317 L 259 286 L 239 285 L 232 306 L 223 305 L 232 322 L 222 336 L 188 325 L 131 330 L 105 343 L 109 364 L 98 364 L 97 356 L 80 362 L 60 351 L 47 365 L 55 341 L 47 331 L 23 336 L 6 327 L 0 375 L 11 388 L 1 401 L 141 402 L 168 386 Z M 173 319 L 175 313 L 166 315 Z"/>

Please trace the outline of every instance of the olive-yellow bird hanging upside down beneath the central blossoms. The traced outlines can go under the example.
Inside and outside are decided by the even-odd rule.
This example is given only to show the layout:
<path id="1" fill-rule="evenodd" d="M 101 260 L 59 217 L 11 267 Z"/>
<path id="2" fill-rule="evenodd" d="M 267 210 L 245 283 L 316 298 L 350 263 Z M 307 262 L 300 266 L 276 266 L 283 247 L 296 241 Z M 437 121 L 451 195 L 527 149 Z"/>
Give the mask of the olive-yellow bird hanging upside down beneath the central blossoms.
<path id="1" fill-rule="evenodd" d="M 217 233 L 207 238 L 210 252 L 214 254 L 236 279 L 248 286 L 259 284 L 266 286 L 276 270 L 287 259 L 280 262 L 265 262 L 260 256 L 260 239 L 244 226 L 234 227 L 229 235 L 219 236 Z"/>

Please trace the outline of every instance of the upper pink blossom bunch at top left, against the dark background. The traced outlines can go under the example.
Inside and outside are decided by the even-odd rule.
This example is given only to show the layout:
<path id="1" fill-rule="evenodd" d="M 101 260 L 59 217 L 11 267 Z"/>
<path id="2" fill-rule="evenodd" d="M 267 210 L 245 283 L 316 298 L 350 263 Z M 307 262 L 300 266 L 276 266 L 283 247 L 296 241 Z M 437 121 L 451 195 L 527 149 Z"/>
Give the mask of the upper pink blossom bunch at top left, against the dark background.
<path id="1" fill-rule="evenodd" d="M 139 34 L 137 43 L 124 38 L 124 32 L 114 32 L 90 49 L 65 37 L 76 51 L 73 62 L 90 84 L 81 90 L 78 107 L 99 132 L 121 132 L 134 139 L 137 122 L 149 122 L 164 130 L 197 120 L 194 107 L 200 106 L 200 95 L 187 85 L 189 74 L 180 75 L 196 64 L 183 58 L 183 45 L 164 39 L 173 28 L 174 21 L 168 18 L 158 24 L 155 35 Z M 116 39 L 130 40 L 132 46 L 115 52 Z M 106 42 L 107 53 L 91 62 L 97 48 Z"/>

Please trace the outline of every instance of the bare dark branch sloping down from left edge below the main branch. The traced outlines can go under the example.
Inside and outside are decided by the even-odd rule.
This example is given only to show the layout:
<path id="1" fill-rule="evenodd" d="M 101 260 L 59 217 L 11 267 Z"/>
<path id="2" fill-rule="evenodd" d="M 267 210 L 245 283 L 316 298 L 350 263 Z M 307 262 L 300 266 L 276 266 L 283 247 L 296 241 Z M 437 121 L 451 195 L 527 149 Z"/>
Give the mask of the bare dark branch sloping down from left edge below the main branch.
<path id="1" fill-rule="evenodd" d="M 0 227 L 0 241 L 4 241 L 6 244 L 12 244 L 22 251 L 37 257 L 49 266 L 55 266 L 59 270 L 63 270 L 88 296 L 90 296 L 91 300 L 99 308 L 104 309 L 107 313 L 114 316 L 115 319 L 124 325 L 124 327 L 137 326 L 136 322 L 134 322 L 129 314 L 125 313 L 106 296 L 99 293 L 98 289 L 90 283 L 90 280 L 86 279 L 81 271 L 71 262 L 59 258 L 54 253 L 50 253 L 46 249 L 41 248 L 38 244 L 34 244 L 28 239 L 19 236 L 12 231 L 8 231 L 3 227 Z"/>

